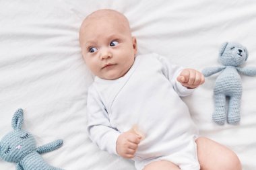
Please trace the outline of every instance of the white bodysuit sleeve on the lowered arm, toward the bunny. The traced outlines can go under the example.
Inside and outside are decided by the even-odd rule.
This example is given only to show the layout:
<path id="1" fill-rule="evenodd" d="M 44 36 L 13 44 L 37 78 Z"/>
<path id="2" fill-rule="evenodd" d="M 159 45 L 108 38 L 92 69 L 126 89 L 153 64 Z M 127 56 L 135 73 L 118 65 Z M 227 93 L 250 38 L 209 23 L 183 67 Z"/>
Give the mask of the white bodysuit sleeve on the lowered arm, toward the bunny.
<path id="1" fill-rule="evenodd" d="M 106 108 L 93 87 L 88 90 L 87 101 L 88 136 L 98 147 L 110 154 L 117 155 L 116 144 L 119 132 L 110 125 Z"/>

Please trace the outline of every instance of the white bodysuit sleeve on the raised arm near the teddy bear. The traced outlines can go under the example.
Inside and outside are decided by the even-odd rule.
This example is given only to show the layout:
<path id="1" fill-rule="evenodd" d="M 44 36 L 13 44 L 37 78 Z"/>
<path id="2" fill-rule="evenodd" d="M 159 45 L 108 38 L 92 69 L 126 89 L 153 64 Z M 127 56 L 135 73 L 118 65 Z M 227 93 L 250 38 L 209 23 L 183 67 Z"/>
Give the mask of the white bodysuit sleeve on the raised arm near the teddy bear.
<path id="1" fill-rule="evenodd" d="M 162 73 L 170 81 L 174 91 L 181 97 L 191 95 L 195 89 L 188 89 L 177 81 L 177 77 L 184 68 L 179 65 L 172 65 L 170 60 L 164 56 L 158 55 L 157 58 L 162 63 Z"/>

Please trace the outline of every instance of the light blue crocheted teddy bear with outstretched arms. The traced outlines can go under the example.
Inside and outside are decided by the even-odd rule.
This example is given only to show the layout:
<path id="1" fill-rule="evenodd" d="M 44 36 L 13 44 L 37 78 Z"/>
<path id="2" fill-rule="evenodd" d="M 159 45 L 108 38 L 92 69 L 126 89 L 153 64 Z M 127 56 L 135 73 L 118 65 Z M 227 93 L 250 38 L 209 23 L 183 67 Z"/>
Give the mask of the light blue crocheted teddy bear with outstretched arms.
<path id="1" fill-rule="evenodd" d="M 242 97 L 242 81 L 238 73 L 255 76 L 255 67 L 241 68 L 239 66 L 248 58 L 247 48 L 235 42 L 225 42 L 220 47 L 219 60 L 223 66 L 203 69 L 205 77 L 220 73 L 214 87 L 215 111 L 212 119 L 216 124 L 224 124 L 227 118 L 229 124 L 238 124 L 241 120 L 240 106 Z M 228 115 L 226 116 L 226 98 L 229 99 Z"/>

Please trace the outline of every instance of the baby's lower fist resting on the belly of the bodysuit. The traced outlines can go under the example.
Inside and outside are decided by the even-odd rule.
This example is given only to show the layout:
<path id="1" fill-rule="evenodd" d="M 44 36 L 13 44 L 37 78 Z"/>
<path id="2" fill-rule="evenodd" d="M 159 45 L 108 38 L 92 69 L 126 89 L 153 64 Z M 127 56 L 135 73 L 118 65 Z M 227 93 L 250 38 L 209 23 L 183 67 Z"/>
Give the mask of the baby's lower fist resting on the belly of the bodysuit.
<path id="1" fill-rule="evenodd" d="M 123 134 L 120 134 L 117 138 L 117 154 L 127 159 L 135 157 L 141 138 L 142 136 L 135 133 L 133 128 Z"/>

